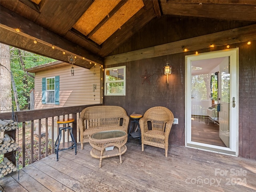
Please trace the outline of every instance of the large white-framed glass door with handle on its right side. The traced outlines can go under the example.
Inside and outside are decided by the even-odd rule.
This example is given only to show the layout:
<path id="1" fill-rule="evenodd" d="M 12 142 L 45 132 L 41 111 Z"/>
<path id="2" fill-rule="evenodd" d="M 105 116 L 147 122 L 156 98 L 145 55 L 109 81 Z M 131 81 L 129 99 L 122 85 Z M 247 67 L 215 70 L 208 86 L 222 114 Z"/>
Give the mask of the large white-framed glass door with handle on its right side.
<path id="1" fill-rule="evenodd" d="M 212 69 L 218 71 L 218 103 L 220 111 L 218 122 L 220 124 L 219 136 L 226 147 L 213 144 L 206 144 L 191 140 L 191 121 L 192 121 L 192 63 L 204 62 L 205 67 L 211 68 L 210 60 L 224 58 L 219 64 L 219 68 Z M 205 62 L 209 61 L 209 62 Z M 185 85 L 185 146 L 230 154 L 238 156 L 238 48 L 195 54 L 186 56 L 186 85 Z M 217 70 L 219 69 L 219 70 Z M 197 68 L 198 72 L 204 70 L 204 66 Z M 233 102 L 234 98 L 234 102 Z M 209 100 L 209 98 L 207 99 Z"/>

